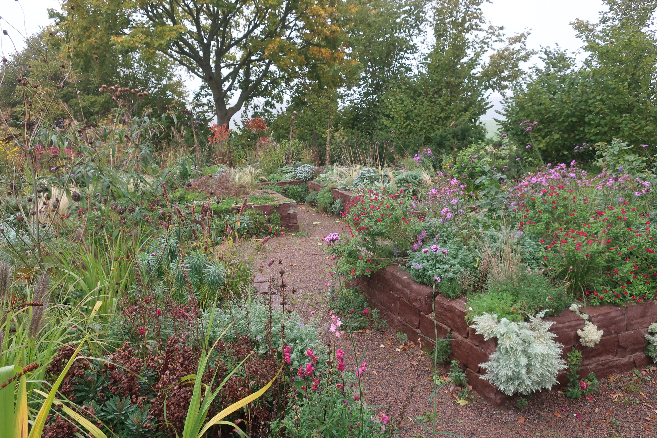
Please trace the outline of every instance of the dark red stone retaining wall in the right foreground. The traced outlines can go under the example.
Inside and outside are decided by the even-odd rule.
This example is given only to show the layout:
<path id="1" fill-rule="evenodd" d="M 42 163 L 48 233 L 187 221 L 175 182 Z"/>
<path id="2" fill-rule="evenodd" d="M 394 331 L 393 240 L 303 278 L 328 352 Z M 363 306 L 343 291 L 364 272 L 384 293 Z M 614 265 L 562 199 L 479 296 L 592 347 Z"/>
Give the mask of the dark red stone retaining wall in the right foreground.
<path id="1" fill-rule="evenodd" d="M 426 345 L 434 339 L 434 313 L 432 312 L 432 288 L 411 280 L 409 273 L 399 267 L 389 266 L 368 277 L 351 280 L 369 299 L 370 304 L 378 309 L 382 318 L 409 339 Z M 468 383 L 484 399 L 495 406 L 504 403 L 510 397 L 498 391 L 487 380 L 480 379 L 486 371 L 479 364 L 488 361 L 495 351 L 496 339 L 484 341 L 484 337 L 475 334 L 468 327 L 466 301 L 463 298 L 448 299 L 437 294 L 435 301 L 435 318 L 438 338 L 445 338 L 451 332 L 451 349 L 453 359 L 459 361 L 468 376 Z M 641 304 L 629 304 L 627 307 L 586 306 L 583 313 L 589 315 L 591 322 L 604 334 L 595 347 L 582 347 L 576 330 L 583 328 L 584 320 L 571 311 L 564 311 L 558 317 L 545 318 L 554 321 L 551 332 L 557 335 L 555 341 L 564 345 L 564 359 L 573 348 L 581 350 L 581 376 L 590 371 L 598 378 L 609 374 L 625 372 L 632 368 L 643 368 L 648 364 L 648 357 L 643 351 L 648 345 L 644 335 L 652 322 L 657 322 L 657 303 L 650 301 Z M 557 376 L 559 386 L 568 383 L 565 370 Z"/>

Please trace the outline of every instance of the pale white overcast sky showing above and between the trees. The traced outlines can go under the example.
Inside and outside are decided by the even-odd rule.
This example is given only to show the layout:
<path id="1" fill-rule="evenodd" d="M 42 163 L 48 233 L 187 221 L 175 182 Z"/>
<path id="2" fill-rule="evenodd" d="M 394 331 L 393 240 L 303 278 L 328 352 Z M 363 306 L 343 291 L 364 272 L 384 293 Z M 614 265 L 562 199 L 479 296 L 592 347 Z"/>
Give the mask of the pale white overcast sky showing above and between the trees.
<path id="1" fill-rule="evenodd" d="M 9 37 L 0 35 L 0 51 L 8 55 L 24 43 L 22 35 L 35 33 L 48 24 L 48 8 L 60 9 L 58 0 L 0 0 L 0 28 L 9 32 Z M 482 5 L 484 16 L 496 26 L 504 26 L 506 33 L 531 32 L 528 47 L 539 50 L 541 46 L 560 45 L 568 51 L 577 51 L 581 41 L 576 38 L 570 22 L 576 18 L 595 21 L 604 9 L 602 0 L 493 0 Z M 198 79 L 190 78 L 187 86 L 198 87 Z M 484 118 L 498 116 L 494 110 L 501 108 L 499 95 L 491 96 L 495 107 Z M 235 117 L 236 119 L 238 116 Z"/>

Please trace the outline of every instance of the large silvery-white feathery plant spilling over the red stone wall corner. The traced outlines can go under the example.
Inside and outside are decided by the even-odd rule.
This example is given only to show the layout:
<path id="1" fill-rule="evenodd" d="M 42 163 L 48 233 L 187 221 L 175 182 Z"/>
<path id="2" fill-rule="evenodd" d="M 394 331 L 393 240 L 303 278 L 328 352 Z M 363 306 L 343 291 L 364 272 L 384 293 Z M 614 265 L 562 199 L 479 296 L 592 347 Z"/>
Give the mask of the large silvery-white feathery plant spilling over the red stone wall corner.
<path id="1" fill-rule="evenodd" d="M 545 311 L 529 322 L 497 320 L 497 315 L 484 313 L 474 318 L 472 328 L 484 339 L 497 338 L 497 349 L 489 361 L 480 364 L 487 372 L 482 379 L 493 383 L 507 395 L 530 394 L 555 385 L 556 374 L 566 368 L 560 343 L 548 332 L 554 322 L 543 320 Z"/>

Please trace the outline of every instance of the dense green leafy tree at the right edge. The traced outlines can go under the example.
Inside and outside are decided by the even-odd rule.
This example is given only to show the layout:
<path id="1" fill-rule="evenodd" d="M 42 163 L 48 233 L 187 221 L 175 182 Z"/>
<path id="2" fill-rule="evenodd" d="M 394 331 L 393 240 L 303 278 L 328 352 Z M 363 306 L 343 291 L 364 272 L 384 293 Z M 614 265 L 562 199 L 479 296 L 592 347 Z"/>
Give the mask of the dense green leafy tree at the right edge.
<path id="1" fill-rule="evenodd" d="M 657 142 L 657 38 L 650 29 L 655 0 L 606 0 L 599 22 L 576 20 L 572 26 L 589 53 L 581 66 L 566 51 L 545 49 L 543 67 L 514 85 L 499 120 L 518 142 L 530 142 L 544 160 L 591 160 L 584 143 Z M 526 131 L 524 120 L 539 121 Z M 576 151 L 575 147 L 578 146 Z"/>

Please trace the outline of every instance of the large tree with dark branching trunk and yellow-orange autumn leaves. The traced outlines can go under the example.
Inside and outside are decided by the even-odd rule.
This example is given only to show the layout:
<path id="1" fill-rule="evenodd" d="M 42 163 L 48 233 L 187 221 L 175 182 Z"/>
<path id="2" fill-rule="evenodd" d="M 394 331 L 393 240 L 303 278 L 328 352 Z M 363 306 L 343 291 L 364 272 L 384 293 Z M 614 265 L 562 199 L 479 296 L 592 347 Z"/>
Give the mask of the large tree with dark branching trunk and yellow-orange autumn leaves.
<path id="1" fill-rule="evenodd" d="M 344 58 L 332 1 L 118 0 L 129 25 L 114 39 L 206 81 L 223 125 L 258 97 L 281 101 L 283 87 L 314 64 Z"/>

